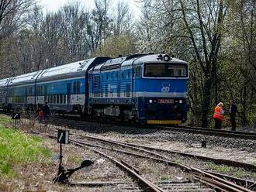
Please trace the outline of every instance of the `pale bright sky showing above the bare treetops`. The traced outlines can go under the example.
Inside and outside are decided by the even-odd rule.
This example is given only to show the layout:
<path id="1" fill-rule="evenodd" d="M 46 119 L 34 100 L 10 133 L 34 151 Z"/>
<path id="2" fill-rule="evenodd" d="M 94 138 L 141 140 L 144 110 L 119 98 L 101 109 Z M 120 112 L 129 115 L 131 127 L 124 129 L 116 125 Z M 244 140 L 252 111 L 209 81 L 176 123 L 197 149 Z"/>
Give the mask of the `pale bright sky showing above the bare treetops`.
<path id="1" fill-rule="evenodd" d="M 88 7 L 89 9 L 94 8 L 94 0 L 40 0 L 39 4 L 43 6 L 43 12 L 56 12 L 61 6 L 68 4 L 69 2 L 81 2 L 81 5 Z M 133 12 L 136 19 L 140 18 L 140 3 L 137 0 L 122 0 L 127 2 L 130 6 L 130 11 Z M 112 4 L 118 2 L 118 0 L 111 0 Z"/>

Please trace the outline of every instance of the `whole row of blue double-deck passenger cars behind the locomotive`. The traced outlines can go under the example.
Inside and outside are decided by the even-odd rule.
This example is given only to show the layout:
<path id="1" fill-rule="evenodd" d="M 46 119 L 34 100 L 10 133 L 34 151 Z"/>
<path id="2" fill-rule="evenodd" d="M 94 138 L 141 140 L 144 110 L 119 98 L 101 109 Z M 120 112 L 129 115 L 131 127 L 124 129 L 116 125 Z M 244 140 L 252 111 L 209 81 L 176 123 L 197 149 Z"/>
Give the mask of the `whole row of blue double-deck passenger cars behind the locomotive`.
<path id="1" fill-rule="evenodd" d="M 95 57 L 0 81 L 0 105 L 29 108 L 48 101 L 54 111 L 85 110 L 88 97 L 88 70 L 109 57 Z"/>

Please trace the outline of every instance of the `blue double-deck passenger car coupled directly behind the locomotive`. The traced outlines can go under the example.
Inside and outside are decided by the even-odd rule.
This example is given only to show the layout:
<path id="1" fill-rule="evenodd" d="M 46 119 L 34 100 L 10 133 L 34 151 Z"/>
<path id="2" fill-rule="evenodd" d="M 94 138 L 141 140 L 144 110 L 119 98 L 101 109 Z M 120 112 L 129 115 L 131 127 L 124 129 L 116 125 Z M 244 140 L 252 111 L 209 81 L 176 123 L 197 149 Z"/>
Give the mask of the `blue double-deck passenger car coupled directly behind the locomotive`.
<path id="1" fill-rule="evenodd" d="M 43 70 L 36 81 L 36 104 L 48 101 L 54 111 L 86 112 L 88 70 L 109 57 L 95 57 Z"/>

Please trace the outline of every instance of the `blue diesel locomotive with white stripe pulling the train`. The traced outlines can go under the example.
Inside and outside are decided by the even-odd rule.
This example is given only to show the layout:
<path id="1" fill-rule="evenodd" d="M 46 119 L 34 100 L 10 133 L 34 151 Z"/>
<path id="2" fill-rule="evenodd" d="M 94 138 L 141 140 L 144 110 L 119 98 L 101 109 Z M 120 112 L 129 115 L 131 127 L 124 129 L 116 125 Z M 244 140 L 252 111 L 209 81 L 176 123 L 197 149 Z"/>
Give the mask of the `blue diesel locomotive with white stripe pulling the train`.
<path id="1" fill-rule="evenodd" d="M 168 55 L 132 55 L 89 71 L 89 113 L 147 124 L 181 124 L 189 105 L 188 63 Z"/>

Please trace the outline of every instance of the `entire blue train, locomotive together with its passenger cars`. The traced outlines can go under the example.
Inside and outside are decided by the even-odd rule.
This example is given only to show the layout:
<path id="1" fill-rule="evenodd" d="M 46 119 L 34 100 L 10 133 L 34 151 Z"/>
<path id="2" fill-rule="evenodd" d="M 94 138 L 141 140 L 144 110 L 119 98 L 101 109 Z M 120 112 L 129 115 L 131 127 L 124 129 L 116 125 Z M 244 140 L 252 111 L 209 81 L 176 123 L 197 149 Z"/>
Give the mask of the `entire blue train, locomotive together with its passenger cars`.
<path id="1" fill-rule="evenodd" d="M 188 79 L 188 63 L 164 54 L 95 57 L 0 80 L 0 106 L 48 101 L 61 113 L 181 124 L 189 110 Z"/>

